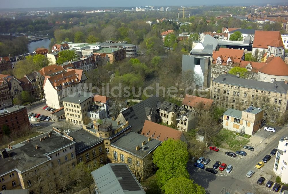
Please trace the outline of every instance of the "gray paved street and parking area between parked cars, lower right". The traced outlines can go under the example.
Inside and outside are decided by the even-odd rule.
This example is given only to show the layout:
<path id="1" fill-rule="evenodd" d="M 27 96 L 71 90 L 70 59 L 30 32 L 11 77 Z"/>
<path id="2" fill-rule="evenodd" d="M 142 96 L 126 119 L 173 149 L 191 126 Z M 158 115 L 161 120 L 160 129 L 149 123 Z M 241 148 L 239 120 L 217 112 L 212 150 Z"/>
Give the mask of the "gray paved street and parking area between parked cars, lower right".
<path id="1" fill-rule="evenodd" d="M 259 135 L 268 136 L 272 132 L 262 130 L 258 133 L 262 133 Z M 235 191 L 237 191 L 237 193 L 243 193 L 243 194 L 245 194 L 246 192 L 252 192 L 253 191 L 252 187 L 254 187 L 253 185 L 255 185 L 253 183 L 255 183 L 260 176 L 263 176 L 264 174 L 267 175 L 268 173 L 272 174 L 275 156 L 271 156 L 272 158 L 264 165 L 267 167 L 269 166 L 268 168 L 269 171 L 263 170 L 263 167 L 260 170 L 258 170 L 257 168 L 255 168 L 256 164 L 259 161 L 262 161 L 262 159 L 266 155 L 270 154 L 270 151 L 272 149 L 278 146 L 279 139 L 284 135 L 287 135 L 287 132 L 283 132 L 270 144 L 264 143 L 258 145 L 262 146 L 264 149 L 260 151 L 256 156 L 249 156 L 251 154 L 249 152 L 251 151 L 246 149 L 242 150 L 247 152 L 247 156 L 240 157 L 237 155 L 236 158 L 226 156 L 225 152 L 221 151 L 221 149 L 219 152 L 207 149 L 206 153 L 204 154 L 204 157 L 205 158 L 208 157 L 209 159 L 211 159 L 211 161 L 208 165 L 206 165 L 206 167 L 212 168 L 213 164 L 218 160 L 221 163 L 226 163 L 227 165 L 231 164 L 233 166 L 233 169 L 229 174 L 226 172 L 218 172 L 217 175 L 214 175 L 210 172 L 206 172 L 205 170 L 194 167 L 192 162 L 189 162 L 187 165 L 188 172 L 190 173 L 192 179 L 194 179 L 194 181 L 197 184 L 201 185 L 207 191 L 209 191 L 210 194 L 219 194 L 221 192 L 223 194 L 225 194 L 226 192 L 234 193 Z M 253 170 L 255 172 L 255 174 L 251 178 L 246 177 L 246 173 L 249 170 Z M 275 192 L 268 191 L 268 193 L 272 194 Z"/>

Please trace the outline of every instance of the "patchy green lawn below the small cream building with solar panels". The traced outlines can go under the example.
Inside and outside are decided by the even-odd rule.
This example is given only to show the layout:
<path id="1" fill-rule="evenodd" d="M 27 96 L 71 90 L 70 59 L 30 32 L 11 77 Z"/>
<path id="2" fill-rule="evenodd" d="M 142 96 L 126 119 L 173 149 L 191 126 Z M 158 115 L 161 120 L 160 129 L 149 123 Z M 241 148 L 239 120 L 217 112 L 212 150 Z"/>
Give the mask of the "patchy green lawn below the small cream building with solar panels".
<path id="1" fill-rule="evenodd" d="M 227 129 L 221 129 L 215 137 L 215 146 L 237 151 L 249 142 L 249 140 L 236 136 L 234 133 Z"/>

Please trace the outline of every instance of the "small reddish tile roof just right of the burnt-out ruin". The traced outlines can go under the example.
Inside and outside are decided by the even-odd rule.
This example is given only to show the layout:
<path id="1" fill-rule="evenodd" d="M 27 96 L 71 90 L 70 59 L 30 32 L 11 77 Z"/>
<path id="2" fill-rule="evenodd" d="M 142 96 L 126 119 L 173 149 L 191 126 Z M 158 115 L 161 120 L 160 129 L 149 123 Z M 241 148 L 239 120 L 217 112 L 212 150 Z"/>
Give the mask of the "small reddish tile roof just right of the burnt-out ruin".
<path id="1" fill-rule="evenodd" d="M 182 102 L 182 105 L 192 106 L 193 108 L 202 109 L 205 111 L 209 111 L 213 104 L 212 99 L 202 98 L 198 96 L 192 96 L 189 94 L 185 95 L 185 98 Z"/>

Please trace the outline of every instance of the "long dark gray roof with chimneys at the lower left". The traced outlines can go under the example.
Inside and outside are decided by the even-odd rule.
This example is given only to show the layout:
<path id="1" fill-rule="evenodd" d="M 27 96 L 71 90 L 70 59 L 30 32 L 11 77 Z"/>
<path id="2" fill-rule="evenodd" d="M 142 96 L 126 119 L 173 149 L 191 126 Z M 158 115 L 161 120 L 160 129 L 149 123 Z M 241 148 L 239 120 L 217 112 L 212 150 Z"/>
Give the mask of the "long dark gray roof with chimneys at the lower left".
<path id="1" fill-rule="evenodd" d="M 47 136 L 48 138 L 40 141 L 40 138 Z M 48 133 L 39 135 L 32 138 L 30 142 L 24 141 L 16 144 L 13 149 L 7 149 L 7 154 L 10 153 L 9 157 L 0 157 L 1 171 L 0 174 L 5 174 L 17 168 L 21 172 L 28 170 L 42 162 L 50 160 L 48 153 L 61 149 L 74 144 L 75 142 L 63 137 L 56 132 L 52 132 L 51 137 Z M 35 148 L 35 145 L 39 144 L 39 149 Z M 15 159 L 14 159 L 15 157 Z"/>

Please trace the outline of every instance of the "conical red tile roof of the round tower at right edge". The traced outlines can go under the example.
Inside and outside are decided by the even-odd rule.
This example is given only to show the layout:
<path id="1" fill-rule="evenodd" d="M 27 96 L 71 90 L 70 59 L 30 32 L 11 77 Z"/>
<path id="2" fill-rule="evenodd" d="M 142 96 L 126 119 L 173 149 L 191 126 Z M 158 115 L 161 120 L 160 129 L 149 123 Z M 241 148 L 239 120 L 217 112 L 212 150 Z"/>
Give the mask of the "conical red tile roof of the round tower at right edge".
<path id="1" fill-rule="evenodd" d="M 259 72 L 268 75 L 288 76 L 288 65 L 282 60 L 281 57 L 275 57 L 265 66 L 259 69 Z"/>

